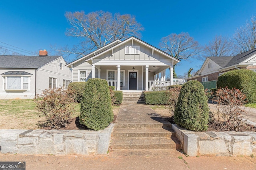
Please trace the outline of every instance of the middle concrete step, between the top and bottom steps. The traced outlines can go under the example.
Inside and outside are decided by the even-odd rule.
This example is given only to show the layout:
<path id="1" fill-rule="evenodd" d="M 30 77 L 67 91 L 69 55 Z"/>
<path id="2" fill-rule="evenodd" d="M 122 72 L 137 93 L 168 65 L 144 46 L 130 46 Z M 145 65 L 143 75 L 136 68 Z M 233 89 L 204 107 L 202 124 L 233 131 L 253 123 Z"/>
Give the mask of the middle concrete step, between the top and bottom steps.
<path id="1" fill-rule="evenodd" d="M 172 128 L 117 128 L 112 137 L 171 137 Z"/>

